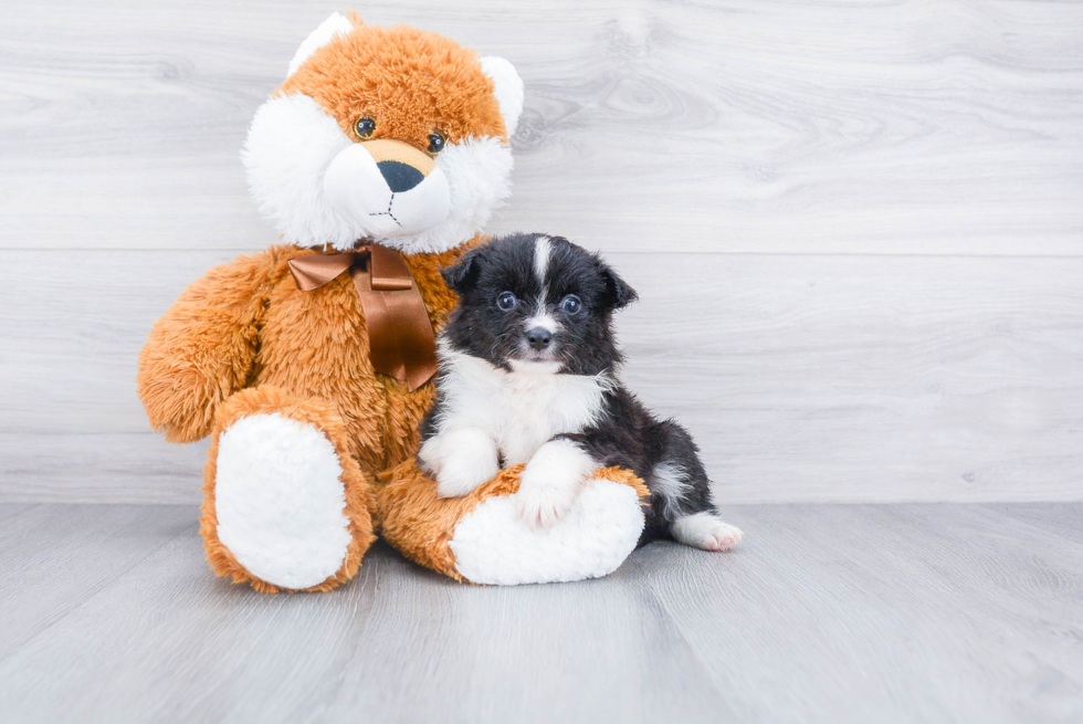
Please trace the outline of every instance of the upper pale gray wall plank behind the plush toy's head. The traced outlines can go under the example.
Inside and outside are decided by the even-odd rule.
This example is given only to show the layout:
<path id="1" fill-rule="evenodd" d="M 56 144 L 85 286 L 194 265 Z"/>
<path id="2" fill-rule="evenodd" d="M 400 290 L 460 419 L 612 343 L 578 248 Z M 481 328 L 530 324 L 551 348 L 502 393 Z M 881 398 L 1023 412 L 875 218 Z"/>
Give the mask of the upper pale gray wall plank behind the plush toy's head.
<path id="1" fill-rule="evenodd" d="M 257 249 L 238 150 L 336 3 L 41 1 L 0 28 L 0 246 Z M 611 251 L 1083 253 L 1083 6 L 367 2 L 526 83 L 496 230 Z"/>

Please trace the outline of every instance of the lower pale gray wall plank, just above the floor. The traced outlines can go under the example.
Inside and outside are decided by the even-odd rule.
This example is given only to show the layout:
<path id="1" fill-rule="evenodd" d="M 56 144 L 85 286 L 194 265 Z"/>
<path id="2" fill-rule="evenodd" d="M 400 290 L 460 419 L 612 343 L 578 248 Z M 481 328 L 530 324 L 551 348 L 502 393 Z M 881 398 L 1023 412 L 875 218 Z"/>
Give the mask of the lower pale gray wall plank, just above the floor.
<path id="1" fill-rule="evenodd" d="M 227 252 L 0 251 L 0 496 L 198 502 L 149 431 L 151 322 Z M 1083 261 L 620 253 L 625 381 L 721 500 L 1083 499 Z M 29 302 L 28 302 L 29 301 Z"/>

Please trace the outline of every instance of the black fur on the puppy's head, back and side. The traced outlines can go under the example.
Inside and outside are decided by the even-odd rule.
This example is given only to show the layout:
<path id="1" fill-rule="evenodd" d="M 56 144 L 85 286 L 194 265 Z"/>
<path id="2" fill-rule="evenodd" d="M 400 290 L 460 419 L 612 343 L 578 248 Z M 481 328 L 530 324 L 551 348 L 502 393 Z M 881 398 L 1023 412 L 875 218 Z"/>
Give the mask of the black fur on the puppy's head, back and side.
<path id="1" fill-rule="evenodd" d="M 614 380 L 603 395 L 597 422 L 588 429 L 555 437 L 571 440 L 600 466 L 620 465 L 642 478 L 651 490 L 646 526 L 640 545 L 670 536 L 679 517 L 704 511 L 715 513 L 709 482 L 698 449 L 688 432 L 673 420 L 659 420 L 618 379 L 621 354 L 613 335 L 612 314 L 637 300 L 635 292 L 597 254 L 566 239 L 549 237 L 551 254 L 546 284 L 534 270 L 535 244 L 540 234 L 512 234 L 465 254 L 444 270 L 444 279 L 460 295 L 442 338 L 462 353 L 481 357 L 511 371 L 511 361 L 559 363 L 564 375 L 606 375 Z M 504 292 L 517 305 L 498 306 Z M 559 324 L 553 348 L 537 353 L 524 343 L 524 323 L 544 308 Z M 578 314 L 562 312 L 560 304 L 574 294 L 582 301 Z M 435 432 L 442 397 L 438 378 L 437 401 L 421 426 L 422 440 Z M 662 495 L 660 465 L 683 471 L 683 494 Z"/>

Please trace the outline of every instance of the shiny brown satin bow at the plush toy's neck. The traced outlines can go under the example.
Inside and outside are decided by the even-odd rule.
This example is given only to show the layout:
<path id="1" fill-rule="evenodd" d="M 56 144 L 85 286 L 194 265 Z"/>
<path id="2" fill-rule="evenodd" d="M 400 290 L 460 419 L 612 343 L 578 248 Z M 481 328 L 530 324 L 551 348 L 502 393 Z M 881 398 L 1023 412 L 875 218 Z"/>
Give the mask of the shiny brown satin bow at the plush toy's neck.
<path id="1" fill-rule="evenodd" d="M 291 259 L 297 288 L 311 292 L 349 270 L 368 324 L 372 368 L 418 389 L 437 373 L 437 342 L 410 267 L 392 249 L 364 242 L 356 251 Z"/>

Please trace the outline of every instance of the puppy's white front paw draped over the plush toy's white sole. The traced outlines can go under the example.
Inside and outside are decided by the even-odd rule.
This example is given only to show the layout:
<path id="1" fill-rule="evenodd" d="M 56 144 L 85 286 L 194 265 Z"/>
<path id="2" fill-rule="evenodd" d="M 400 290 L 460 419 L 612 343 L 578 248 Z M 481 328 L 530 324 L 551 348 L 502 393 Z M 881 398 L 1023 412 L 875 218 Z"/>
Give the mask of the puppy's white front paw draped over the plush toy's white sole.
<path id="1" fill-rule="evenodd" d="M 568 514 L 582 490 L 593 460 L 569 440 L 553 440 L 542 445 L 519 478 L 515 494 L 518 516 L 536 528 L 548 531 Z"/>

